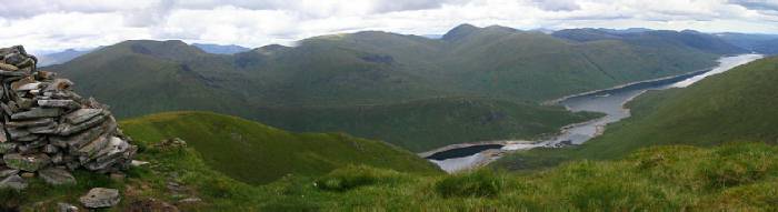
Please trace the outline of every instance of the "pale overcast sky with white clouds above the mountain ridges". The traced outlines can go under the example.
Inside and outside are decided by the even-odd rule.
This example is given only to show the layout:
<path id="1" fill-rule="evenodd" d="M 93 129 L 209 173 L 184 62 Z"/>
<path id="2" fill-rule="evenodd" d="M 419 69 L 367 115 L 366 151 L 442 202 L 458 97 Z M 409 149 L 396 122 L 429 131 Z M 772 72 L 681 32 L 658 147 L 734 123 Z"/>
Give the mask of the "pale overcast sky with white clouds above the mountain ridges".
<path id="1" fill-rule="evenodd" d="M 778 0 L 0 0 L 0 47 L 33 52 L 129 39 L 261 47 L 382 30 L 440 34 L 460 23 L 778 33 Z"/>

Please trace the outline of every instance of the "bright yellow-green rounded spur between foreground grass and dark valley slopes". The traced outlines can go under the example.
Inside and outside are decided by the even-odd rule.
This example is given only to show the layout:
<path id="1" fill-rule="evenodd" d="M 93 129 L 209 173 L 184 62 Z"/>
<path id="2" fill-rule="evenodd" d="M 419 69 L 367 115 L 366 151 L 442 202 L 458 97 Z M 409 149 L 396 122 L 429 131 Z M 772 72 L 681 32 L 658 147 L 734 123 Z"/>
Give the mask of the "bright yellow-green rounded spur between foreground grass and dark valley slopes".
<path id="1" fill-rule="evenodd" d="M 122 121 L 121 127 L 141 143 L 181 138 L 213 170 L 251 184 L 287 174 L 319 175 L 348 164 L 439 172 L 426 160 L 382 142 L 339 133 L 290 133 L 216 113 L 159 113 Z"/>

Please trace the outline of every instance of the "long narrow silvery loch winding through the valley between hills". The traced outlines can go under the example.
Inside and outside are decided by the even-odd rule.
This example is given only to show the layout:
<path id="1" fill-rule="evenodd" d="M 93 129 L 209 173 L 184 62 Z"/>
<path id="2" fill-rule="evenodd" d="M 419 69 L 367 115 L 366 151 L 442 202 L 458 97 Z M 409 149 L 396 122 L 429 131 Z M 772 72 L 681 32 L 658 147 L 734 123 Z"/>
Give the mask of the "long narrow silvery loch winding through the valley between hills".
<path id="1" fill-rule="evenodd" d="M 637 82 L 614 89 L 587 92 L 585 94 L 562 99 L 557 103 L 565 105 L 570 111 L 592 111 L 601 112 L 606 115 L 597 120 L 566 127 L 562 129 L 559 135 L 548 140 L 536 142 L 505 141 L 499 150 L 501 153 L 505 153 L 518 150 L 529 150 L 533 148 L 563 148 L 570 144 L 581 144 L 599 135 L 608 123 L 628 118 L 630 113 L 629 110 L 624 108 L 624 104 L 648 90 L 685 88 L 709 75 L 725 72 L 737 65 L 745 64 L 760 58 L 762 58 L 761 54 L 725 57 L 719 59 L 719 65 L 710 70 Z M 473 144 L 448 149 L 445 148 L 445 151 L 431 153 L 430 157 L 427 157 L 427 159 L 429 159 L 432 163 L 438 164 L 438 166 L 447 172 L 467 170 L 473 166 L 487 164 L 501 155 L 501 153 L 495 153 L 493 151 L 489 151 L 489 153 L 485 152 L 486 150 L 496 149 L 493 144 L 495 142 L 490 143 L 491 144 Z M 432 158 L 431 155 L 436 157 Z"/>

